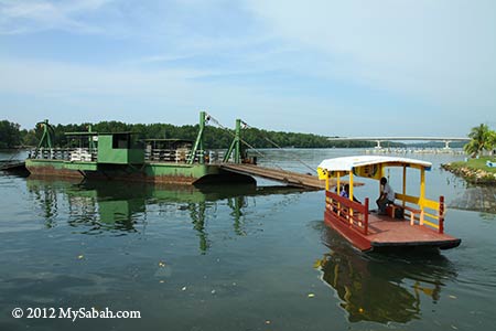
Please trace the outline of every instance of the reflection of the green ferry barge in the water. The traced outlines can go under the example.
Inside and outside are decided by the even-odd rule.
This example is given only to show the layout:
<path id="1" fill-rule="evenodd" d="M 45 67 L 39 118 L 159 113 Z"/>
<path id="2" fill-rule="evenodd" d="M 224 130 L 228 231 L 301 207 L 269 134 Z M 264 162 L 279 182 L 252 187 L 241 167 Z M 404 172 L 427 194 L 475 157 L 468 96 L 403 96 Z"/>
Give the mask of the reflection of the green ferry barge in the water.
<path id="1" fill-rule="evenodd" d="M 165 220 L 185 215 L 200 238 L 200 249 L 211 247 L 207 215 L 216 214 L 219 205 L 230 209 L 236 235 L 247 234 L 244 215 L 248 196 L 285 194 L 301 191 L 294 188 L 255 185 L 172 186 L 129 182 L 78 182 L 67 180 L 26 179 L 29 192 L 39 203 L 40 216 L 46 227 L 67 222 L 77 233 L 126 235 L 144 233 L 147 216 L 154 213 Z M 58 215 L 58 211 L 67 211 Z M 174 217 L 171 217 L 171 216 Z"/>

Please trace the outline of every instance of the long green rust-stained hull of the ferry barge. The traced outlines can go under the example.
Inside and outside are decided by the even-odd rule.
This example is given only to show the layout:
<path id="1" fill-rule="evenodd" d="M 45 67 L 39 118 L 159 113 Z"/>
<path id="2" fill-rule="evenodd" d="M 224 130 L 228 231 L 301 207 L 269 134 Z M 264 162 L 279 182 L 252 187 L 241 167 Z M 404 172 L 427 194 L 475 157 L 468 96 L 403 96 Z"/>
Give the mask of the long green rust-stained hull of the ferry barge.
<path id="1" fill-rule="evenodd" d="M 28 171 L 36 177 L 90 180 L 121 180 L 164 184 L 202 184 L 213 182 L 255 183 L 255 179 L 220 169 L 216 164 L 143 163 L 105 164 L 64 160 L 28 159 Z"/>

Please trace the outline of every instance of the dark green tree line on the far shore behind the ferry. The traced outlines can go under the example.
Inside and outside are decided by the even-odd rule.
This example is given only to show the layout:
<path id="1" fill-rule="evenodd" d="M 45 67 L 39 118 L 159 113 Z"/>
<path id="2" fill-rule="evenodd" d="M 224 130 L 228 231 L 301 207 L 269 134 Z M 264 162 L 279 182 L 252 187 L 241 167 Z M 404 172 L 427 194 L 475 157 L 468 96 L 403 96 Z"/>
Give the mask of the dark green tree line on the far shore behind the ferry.
<path id="1" fill-rule="evenodd" d="M 176 138 L 194 141 L 198 125 L 174 126 L 170 124 L 126 124 L 121 121 L 100 121 L 97 124 L 52 125 L 52 142 L 55 147 L 66 147 L 71 143 L 65 132 L 88 131 L 88 127 L 96 132 L 136 132 L 141 139 Z M 33 129 L 21 129 L 19 124 L 0 120 L 0 149 L 15 149 L 35 147 L 42 137 L 40 126 Z M 242 130 L 241 139 L 255 148 L 274 148 L 276 142 L 283 148 L 371 148 L 374 141 L 330 141 L 325 136 L 300 132 L 271 131 L 257 128 Z M 234 137 L 234 130 L 208 126 L 204 132 L 205 146 L 211 149 L 228 148 Z M 401 142 L 386 142 L 385 147 L 405 147 Z"/>

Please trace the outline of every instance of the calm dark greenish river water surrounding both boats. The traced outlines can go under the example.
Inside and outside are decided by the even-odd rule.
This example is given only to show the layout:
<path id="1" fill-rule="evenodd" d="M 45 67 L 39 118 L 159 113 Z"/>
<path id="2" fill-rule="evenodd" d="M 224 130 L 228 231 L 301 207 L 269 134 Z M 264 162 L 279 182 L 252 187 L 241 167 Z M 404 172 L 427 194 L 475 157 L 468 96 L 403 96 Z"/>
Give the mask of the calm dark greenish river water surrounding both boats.
<path id="1" fill-rule="evenodd" d="M 363 152 L 266 150 L 259 161 L 310 172 Z M 440 170 L 461 156 L 413 157 L 433 163 L 428 197 L 445 195 L 457 248 L 362 254 L 323 224 L 324 192 L 263 180 L 198 190 L 1 174 L 0 330 L 492 330 L 496 191 Z M 407 192 L 418 181 L 409 174 Z M 377 184 L 364 183 L 355 194 L 374 201 Z M 390 183 L 400 190 L 395 172 Z M 141 319 L 29 319 L 30 308 Z"/>

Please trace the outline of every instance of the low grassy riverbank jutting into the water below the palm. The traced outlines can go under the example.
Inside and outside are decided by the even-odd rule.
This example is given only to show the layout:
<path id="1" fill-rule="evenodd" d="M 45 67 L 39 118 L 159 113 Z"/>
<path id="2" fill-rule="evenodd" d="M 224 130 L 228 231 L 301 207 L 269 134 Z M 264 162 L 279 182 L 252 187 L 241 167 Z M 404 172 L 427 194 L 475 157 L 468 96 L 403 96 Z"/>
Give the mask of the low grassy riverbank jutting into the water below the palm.
<path id="1" fill-rule="evenodd" d="M 471 184 L 496 185 L 496 168 L 487 167 L 487 161 L 494 162 L 494 158 L 468 159 L 441 164 L 441 168 L 462 177 Z"/>

